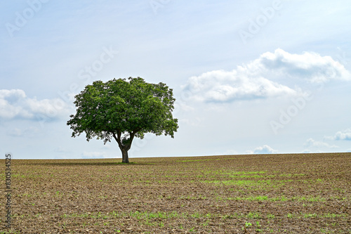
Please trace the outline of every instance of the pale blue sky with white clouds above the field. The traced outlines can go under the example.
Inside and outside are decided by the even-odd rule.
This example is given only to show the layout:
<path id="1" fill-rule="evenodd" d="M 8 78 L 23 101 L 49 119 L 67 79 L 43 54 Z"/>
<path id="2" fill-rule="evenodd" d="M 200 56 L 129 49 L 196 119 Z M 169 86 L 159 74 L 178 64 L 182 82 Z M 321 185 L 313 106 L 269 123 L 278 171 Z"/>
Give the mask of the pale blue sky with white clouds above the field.
<path id="1" fill-rule="evenodd" d="M 351 152 L 349 0 L 0 3 L 0 154 L 121 158 L 72 138 L 74 95 L 143 77 L 176 98 L 174 135 L 129 157 Z"/>

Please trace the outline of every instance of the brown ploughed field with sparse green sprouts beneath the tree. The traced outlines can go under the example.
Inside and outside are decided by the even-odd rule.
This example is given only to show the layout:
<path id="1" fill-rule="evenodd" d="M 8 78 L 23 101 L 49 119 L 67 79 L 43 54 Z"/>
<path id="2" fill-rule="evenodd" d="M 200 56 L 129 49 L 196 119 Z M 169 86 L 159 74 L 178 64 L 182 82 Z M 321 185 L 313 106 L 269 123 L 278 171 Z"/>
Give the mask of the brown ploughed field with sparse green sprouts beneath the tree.
<path id="1" fill-rule="evenodd" d="M 130 160 L 12 160 L 0 233 L 351 233 L 351 153 Z"/>

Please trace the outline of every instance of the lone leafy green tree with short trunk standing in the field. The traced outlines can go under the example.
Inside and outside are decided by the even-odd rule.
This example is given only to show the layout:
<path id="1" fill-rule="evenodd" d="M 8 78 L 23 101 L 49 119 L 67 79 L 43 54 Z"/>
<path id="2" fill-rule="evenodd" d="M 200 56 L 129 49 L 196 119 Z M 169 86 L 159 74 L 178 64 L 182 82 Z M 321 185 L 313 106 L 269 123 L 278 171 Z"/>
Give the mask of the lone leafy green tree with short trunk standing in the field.
<path id="1" fill-rule="evenodd" d="M 125 163 L 134 137 L 152 133 L 173 138 L 178 129 L 172 115 L 173 90 L 161 82 L 150 84 L 140 77 L 96 81 L 75 98 L 77 113 L 67 121 L 72 137 L 85 131 L 86 141 L 96 136 L 106 144 L 114 138 Z"/>

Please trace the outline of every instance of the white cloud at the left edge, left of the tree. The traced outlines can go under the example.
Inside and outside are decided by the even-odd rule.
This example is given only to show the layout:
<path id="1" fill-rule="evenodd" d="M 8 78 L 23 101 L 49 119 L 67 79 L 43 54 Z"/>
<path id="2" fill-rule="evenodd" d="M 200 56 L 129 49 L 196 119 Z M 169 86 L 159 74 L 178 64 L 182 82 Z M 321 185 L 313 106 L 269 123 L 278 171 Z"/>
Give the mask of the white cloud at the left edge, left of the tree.
<path id="1" fill-rule="evenodd" d="M 21 89 L 0 90 L 0 119 L 55 119 L 67 114 L 69 106 L 59 98 L 28 98 Z"/>

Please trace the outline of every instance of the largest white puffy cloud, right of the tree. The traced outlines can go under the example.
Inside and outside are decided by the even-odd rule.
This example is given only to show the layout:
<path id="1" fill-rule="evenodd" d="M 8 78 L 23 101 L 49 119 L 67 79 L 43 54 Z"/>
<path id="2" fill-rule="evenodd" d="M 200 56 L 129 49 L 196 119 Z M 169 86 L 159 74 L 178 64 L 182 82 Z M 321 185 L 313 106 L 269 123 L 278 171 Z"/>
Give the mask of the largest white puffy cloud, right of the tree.
<path id="1" fill-rule="evenodd" d="M 351 80 L 343 65 L 329 56 L 305 52 L 291 54 L 278 48 L 232 71 L 214 70 L 190 77 L 183 86 L 189 98 L 206 102 L 232 102 L 301 94 L 268 77 L 304 78 L 312 83 L 330 79 Z"/>

